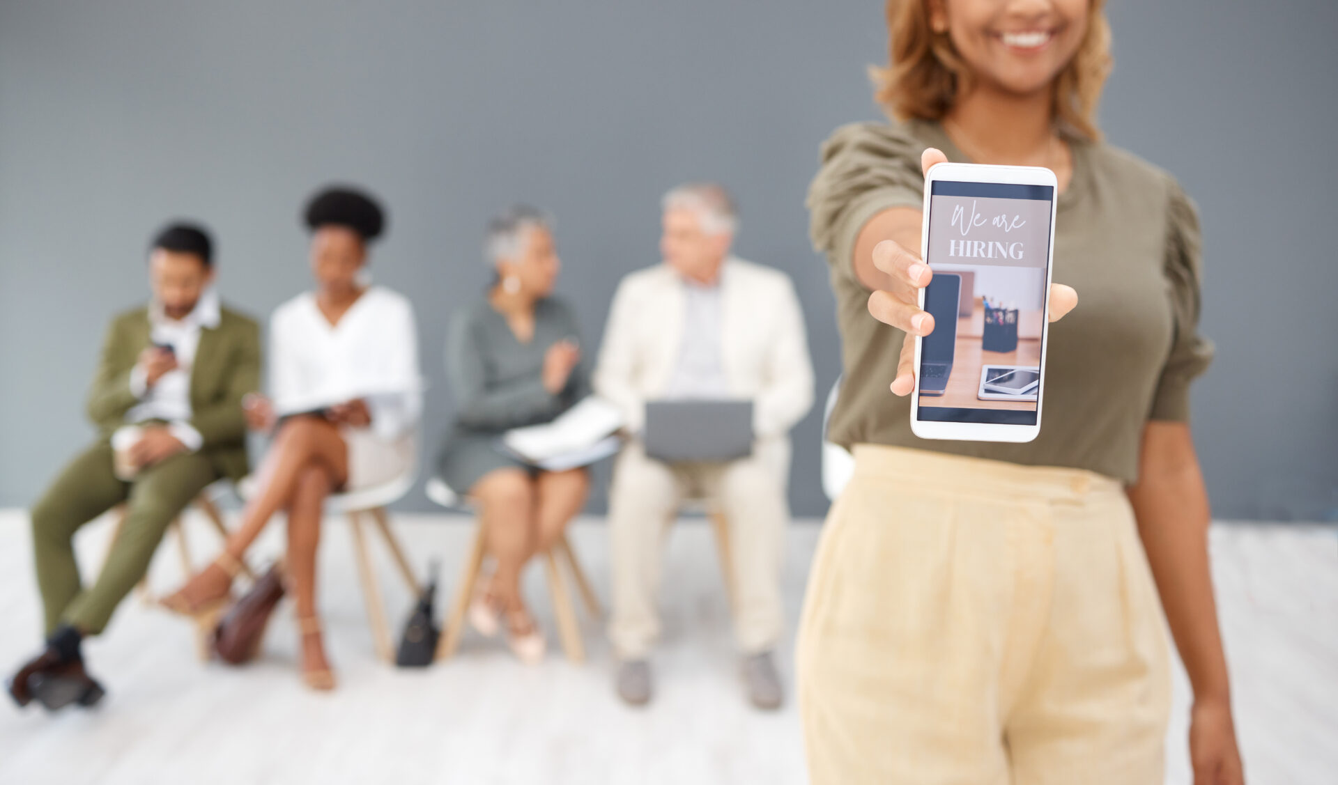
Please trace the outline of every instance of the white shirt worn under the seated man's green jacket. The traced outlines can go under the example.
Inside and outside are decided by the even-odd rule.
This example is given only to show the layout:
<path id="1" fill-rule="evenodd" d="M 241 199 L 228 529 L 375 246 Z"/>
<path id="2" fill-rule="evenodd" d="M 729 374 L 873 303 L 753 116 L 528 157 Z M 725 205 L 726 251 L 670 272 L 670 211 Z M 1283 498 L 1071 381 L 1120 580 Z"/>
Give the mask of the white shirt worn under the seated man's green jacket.
<path id="1" fill-rule="evenodd" d="M 139 403 L 126 412 L 126 423 L 163 420 L 186 449 L 194 452 L 201 448 L 205 439 L 190 425 L 190 372 L 195 365 L 201 330 L 217 328 L 218 320 L 218 293 L 213 286 L 205 289 L 195 308 L 179 320 L 167 318 L 157 300 L 149 305 L 150 340 L 173 348 L 177 368 L 162 374 L 150 389 L 147 372 L 135 365 L 130 372 L 130 392 Z"/>

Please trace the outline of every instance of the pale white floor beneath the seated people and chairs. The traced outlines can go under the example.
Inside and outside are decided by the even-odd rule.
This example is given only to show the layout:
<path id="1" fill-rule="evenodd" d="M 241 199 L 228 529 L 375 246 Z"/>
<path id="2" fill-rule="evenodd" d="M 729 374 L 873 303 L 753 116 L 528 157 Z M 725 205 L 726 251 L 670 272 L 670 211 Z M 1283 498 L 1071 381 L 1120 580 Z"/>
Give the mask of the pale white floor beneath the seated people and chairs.
<path id="1" fill-rule="evenodd" d="M 31 655 L 39 627 L 27 518 L 0 511 L 0 666 Z M 413 559 L 443 559 L 454 587 L 470 528 L 447 516 L 396 520 Z M 86 563 L 110 526 L 82 535 Z M 277 528 L 277 527 L 276 527 Z M 213 550 L 190 520 L 197 558 Z M 789 535 L 785 603 L 799 614 L 819 528 Z M 607 596 L 606 531 L 574 527 L 573 542 Z M 258 554 L 277 554 L 269 532 Z M 1321 527 L 1216 526 L 1212 551 L 1239 733 L 1251 782 L 1329 784 L 1338 778 L 1338 531 Z M 280 782 L 804 782 L 793 702 L 779 714 L 745 706 L 736 678 L 720 572 L 709 530 L 674 531 L 665 570 L 665 642 L 656 659 L 658 694 L 648 710 L 624 707 L 610 687 L 601 629 L 585 622 L 590 662 L 557 653 L 538 669 L 498 645 L 466 638 L 458 659 L 428 671 L 377 663 L 355 580 L 349 536 L 332 522 L 322 547 L 322 608 L 340 689 L 308 693 L 293 666 L 296 631 L 286 608 L 261 662 L 246 669 L 198 663 L 185 623 L 127 602 L 110 634 L 87 646 L 108 686 L 95 711 L 48 717 L 0 707 L 0 782 L 280 784 Z M 383 562 L 387 602 L 399 626 L 409 598 Z M 163 548 L 153 568 L 163 588 L 179 576 Z M 542 572 L 529 594 L 553 630 Z M 444 604 L 444 598 L 440 599 Z M 554 635 L 550 635 L 554 638 Z M 793 673 L 789 642 L 780 651 Z M 1168 744 L 1168 782 L 1188 784 L 1185 686 Z"/>

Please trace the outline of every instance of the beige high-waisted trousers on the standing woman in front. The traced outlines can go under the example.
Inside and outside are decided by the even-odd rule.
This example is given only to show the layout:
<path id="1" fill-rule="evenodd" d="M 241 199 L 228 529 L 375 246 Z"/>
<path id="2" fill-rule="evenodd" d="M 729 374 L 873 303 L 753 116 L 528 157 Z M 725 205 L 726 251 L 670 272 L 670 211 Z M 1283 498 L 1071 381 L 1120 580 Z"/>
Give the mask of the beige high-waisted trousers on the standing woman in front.
<path id="1" fill-rule="evenodd" d="M 814 785 L 1163 780 L 1161 606 L 1101 475 L 858 445 L 797 671 Z"/>

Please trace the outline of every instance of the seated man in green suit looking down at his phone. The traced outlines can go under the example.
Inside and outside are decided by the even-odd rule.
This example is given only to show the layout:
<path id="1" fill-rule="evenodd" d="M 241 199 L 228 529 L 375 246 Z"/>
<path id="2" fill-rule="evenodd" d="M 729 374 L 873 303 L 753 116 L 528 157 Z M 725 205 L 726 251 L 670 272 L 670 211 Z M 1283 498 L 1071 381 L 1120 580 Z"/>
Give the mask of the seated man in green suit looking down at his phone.
<path id="1" fill-rule="evenodd" d="M 260 330 L 219 305 L 202 229 L 163 229 L 149 271 L 153 300 L 112 320 L 103 342 L 88 393 L 99 439 L 32 508 L 47 646 L 9 681 L 20 706 L 36 698 L 56 710 L 102 698 L 102 686 L 84 670 L 80 641 L 107 626 L 149 568 L 167 524 L 206 485 L 248 471 L 242 396 L 258 385 Z M 120 534 L 102 572 L 84 584 L 74 535 L 120 503 Z"/>

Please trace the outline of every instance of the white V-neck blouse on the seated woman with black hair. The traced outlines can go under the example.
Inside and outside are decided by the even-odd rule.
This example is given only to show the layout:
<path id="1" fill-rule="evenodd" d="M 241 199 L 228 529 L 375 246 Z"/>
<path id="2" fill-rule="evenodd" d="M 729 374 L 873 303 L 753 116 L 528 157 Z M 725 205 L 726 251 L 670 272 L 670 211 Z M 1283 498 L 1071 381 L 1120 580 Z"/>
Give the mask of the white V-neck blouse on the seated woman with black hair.
<path id="1" fill-rule="evenodd" d="M 298 294 L 270 317 L 269 385 L 281 416 L 364 399 L 379 437 L 405 436 L 423 411 L 413 306 L 372 286 L 330 325 L 314 294 Z"/>

